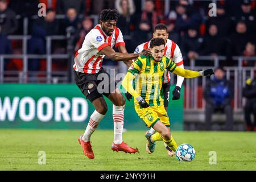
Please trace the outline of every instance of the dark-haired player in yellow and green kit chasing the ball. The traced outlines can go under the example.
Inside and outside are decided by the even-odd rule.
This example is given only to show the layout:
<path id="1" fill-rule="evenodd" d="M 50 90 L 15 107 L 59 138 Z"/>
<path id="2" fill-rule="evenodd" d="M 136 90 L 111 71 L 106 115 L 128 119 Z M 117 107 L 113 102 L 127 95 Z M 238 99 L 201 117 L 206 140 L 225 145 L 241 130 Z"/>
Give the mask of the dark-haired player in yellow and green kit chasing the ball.
<path id="1" fill-rule="evenodd" d="M 155 134 L 146 134 L 148 154 L 154 152 L 155 142 L 158 140 L 163 140 L 174 152 L 177 148 L 170 133 L 169 117 L 164 109 L 162 92 L 164 70 L 168 69 L 168 71 L 185 78 L 214 74 L 213 69 L 196 72 L 177 67 L 172 60 L 164 56 L 164 45 L 164 39 L 152 39 L 150 42 L 152 56 L 138 57 L 122 81 L 123 88 L 135 98 L 134 106 L 139 117 L 143 119 L 147 127 L 153 127 L 156 130 Z"/>

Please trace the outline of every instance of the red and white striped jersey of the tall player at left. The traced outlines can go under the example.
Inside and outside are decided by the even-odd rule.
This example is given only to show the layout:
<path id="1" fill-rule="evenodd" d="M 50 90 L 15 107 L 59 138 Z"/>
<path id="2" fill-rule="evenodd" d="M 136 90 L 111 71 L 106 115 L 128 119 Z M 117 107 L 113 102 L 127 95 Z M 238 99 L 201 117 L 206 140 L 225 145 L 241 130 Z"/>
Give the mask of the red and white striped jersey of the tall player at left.
<path id="1" fill-rule="evenodd" d="M 110 47 L 125 46 L 122 32 L 115 27 L 112 36 L 108 36 L 102 30 L 101 25 L 97 24 L 85 36 L 82 47 L 75 54 L 75 64 L 73 68 L 81 73 L 98 73 L 101 69 L 102 60 L 105 55 L 100 53 L 106 46 Z"/>

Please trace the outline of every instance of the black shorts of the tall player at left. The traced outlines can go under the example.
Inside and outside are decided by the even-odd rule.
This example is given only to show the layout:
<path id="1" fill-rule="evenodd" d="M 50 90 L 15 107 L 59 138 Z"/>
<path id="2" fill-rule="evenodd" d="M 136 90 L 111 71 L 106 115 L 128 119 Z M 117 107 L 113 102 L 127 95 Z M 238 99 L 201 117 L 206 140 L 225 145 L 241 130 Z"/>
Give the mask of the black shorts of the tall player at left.
<path id="1" fill-rule="evenodd" d="M 107 73 L 103 68 L 101 68 L 100 72 L 95 74 L 80 73 L 75 70 L 73 73 L 76 85 L 90 102 L 93 102 L 97 98 L 103 96 L 108 97 L 117 86 L 114 78 L 110 78 L 109 73 Z M 105 74 L 98 77 L 101 73 Z"/>

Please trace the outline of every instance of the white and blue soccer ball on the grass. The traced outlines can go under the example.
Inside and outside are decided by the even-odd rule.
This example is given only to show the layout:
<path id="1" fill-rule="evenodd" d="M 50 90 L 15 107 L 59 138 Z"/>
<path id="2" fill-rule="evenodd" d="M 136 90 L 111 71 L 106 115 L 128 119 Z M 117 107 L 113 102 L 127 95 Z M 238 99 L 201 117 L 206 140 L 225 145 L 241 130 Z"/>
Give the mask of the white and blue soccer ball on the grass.
<path id="1" fill-rule="evenodd" d="M 190 162 L 195 159 L 196 151 L 190 144 L 184 143 L 177 147 L 175 154 L 177 160 Z"/>

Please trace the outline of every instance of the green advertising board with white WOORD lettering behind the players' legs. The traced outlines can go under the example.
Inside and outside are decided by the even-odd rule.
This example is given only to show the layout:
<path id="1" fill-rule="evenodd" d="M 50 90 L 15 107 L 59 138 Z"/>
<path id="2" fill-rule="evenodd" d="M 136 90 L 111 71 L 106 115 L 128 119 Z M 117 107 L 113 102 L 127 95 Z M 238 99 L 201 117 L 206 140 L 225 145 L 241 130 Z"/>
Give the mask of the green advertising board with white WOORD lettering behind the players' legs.
<path id="1" fill-rule="evenodd" d="M 183 92 L 180 100 L 171 98 L 172 95 L 168 107 L 171 128 L 183 130 Z M 113 129 L 112 102 L 108 98 L 106 102 L 108 113 L 99 129 Z M 85 129 L 93 111 L 93 105 L 75 84 L 0 84 L 0 128 Z M 135 112 L 133 101 L 126 100 L 125 128 L 147 129 Z"/>

